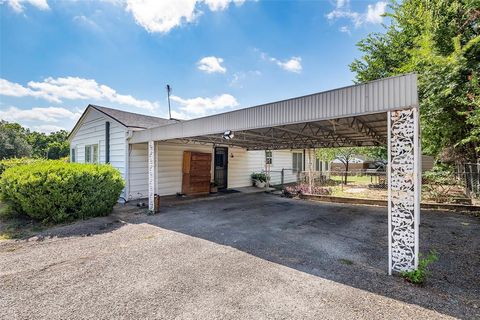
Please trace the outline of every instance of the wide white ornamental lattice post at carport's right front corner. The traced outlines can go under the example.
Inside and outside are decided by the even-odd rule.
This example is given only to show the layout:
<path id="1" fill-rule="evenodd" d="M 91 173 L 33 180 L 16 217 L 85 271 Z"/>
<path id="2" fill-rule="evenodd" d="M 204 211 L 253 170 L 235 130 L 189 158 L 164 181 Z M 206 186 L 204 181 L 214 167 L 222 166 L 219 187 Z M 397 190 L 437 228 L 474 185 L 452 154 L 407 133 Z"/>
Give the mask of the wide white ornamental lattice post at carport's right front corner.
<path id="1" fill-rule="evenodd" d="M 388 273 L 418 266 L 421 156 L 418 108 L 389 111 Z"/>

